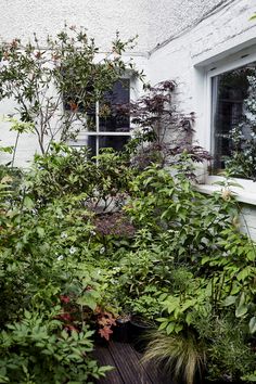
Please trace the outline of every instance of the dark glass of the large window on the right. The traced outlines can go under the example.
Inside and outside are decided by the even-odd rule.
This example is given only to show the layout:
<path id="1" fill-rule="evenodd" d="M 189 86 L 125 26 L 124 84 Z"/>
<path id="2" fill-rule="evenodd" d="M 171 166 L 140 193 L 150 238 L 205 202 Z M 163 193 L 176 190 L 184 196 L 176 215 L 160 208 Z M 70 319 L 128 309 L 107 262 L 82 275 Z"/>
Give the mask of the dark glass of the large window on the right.
<path id="1" fill-rule="evenodd" d="M 256 63 L 226 72 L 212 79 L 212 153 L 214 169 L 225 168 L 225 158 L 232 156 L 234 150 L 243 151 L 249 138 L 251 126 L 241 125 L 248 116 L 246 100 L 251 85 L 248 76 L 255 76 Z M 241 127 L 240 127 L 241 125 Z M 232 139 L 233 131 L 240 127 L 245 140 L 241 140 L 238 149 Z"/>

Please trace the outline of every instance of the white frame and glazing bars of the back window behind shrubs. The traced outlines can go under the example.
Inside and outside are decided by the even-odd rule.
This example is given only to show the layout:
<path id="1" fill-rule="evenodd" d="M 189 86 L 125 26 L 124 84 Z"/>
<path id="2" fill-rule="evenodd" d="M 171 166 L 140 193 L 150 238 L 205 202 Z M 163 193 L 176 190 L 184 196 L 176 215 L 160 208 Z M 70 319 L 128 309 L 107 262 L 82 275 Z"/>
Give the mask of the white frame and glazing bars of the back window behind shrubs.
<path id="1" fill-rule="evenodd" d="M 138 99 L 138 85 L 137 85 L 137 79 L 135 76 L 123 76 L 120 78 L 121 79 L 128 79 L 130 81 L 130 101 L 131 100 L 137 100 Z M 101 131 L 100 130 L 100 116 L 99 116 L 99 112 L 100 112 L 100 102 L 97 101 L 95 102 L 95 131 L 86 131 L 86 130 L 80 130 L 80 132 L 78 133 L 78 139 L 77 141 L 75 140 L 68 140 L 67 143 L 68 145 L 73 146 L 73 148 L 82 148 L 87 145 L 86 142 L 86 138 L 88 137 L 95 137 L 95 154 L 99 154 L 100 151 L 100 138 L 101 137 L 128 137 L 131 138 L 132 137 L 132 125 L 130 121 L 130 130 L 128 132 L 112 132 L 112 131 Z M 79 121 L 74 121 L 73 124 L 74 128 L 76 126 L 80 126 Z M 80 137 L 80 138 L 79 138 Z"/>

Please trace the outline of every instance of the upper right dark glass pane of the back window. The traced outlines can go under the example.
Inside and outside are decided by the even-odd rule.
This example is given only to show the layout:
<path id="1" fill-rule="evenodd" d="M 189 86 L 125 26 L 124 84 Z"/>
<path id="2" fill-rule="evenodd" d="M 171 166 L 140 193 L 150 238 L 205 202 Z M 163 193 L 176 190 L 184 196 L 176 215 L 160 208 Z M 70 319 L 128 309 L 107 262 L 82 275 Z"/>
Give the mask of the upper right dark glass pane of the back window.
<path id="1" fill-rule="evenodd" d="M 120 111 L 120 106 L 130 101 L 130 81 L 120 79 L 116 81 L 113 90 L 104 95 L 100 103 L 100 131 L 101 132 L 128 132 L 130 118 Z"/>

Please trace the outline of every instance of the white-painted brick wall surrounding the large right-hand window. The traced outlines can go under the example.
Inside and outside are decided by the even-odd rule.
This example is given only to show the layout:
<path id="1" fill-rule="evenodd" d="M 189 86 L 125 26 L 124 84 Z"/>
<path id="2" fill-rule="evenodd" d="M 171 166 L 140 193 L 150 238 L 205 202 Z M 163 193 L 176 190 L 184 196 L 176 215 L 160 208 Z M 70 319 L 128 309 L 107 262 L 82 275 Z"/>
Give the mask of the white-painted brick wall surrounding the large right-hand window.
<path id="1" fill-rule="evenodd" d="M 207 150 L 210 149 L 208 74 L 218 67 L 256 60 L 256 24 L 249 21 L 254 12 L 254 0 L 226 2 L 219 12 L 170 39 L 150 55 L 151 81 L 175 79 L 178 82 L 178 108 L 185 113 L 195 112 L 195 139 Z M 206 184 L 202 190 L 210 193 L 216 188 L 207 185 L 212 180 L 204 171 Z M 249 234 L 256 239 L 256 182 L 240 182 L 243 188 L 235 192 L 245 203 L 244 218 Z"/>

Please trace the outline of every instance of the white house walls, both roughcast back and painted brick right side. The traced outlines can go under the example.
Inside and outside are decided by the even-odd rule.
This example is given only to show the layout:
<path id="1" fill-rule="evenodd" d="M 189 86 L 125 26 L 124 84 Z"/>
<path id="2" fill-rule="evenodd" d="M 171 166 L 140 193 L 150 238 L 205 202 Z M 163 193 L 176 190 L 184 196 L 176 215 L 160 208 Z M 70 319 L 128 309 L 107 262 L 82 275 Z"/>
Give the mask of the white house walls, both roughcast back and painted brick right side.
<path id="1" fill-rule="evenodd" d="M 2 0 L 0 37 L 27 39 L 37 31 L 43 40 L 66 21 L 86 26 L 105 51 L 117 29 L 123 39 L 138 34 L 132 55 L 139 67 L 145 68 L 152 84 L 178 82 L 178 107 L 196 113 L 196 138 L 207 146 L 205 71 L 256 44 L 256 23 L 248 21 L 255 11 L 255 0 Z M 10 103 L 2 104 L 0 113 L 10 108 Z M 3 136 L 1 131 L 0 139 L 11 144 L 13 138 L 7 129 Z M 20 145 L 20 163 L 25 164 L 35 150 L 34 140 L 26 138 Z M 256 236 L 256 208 L 247 205 L 244 216 Z"/>

